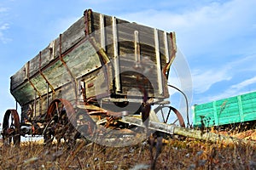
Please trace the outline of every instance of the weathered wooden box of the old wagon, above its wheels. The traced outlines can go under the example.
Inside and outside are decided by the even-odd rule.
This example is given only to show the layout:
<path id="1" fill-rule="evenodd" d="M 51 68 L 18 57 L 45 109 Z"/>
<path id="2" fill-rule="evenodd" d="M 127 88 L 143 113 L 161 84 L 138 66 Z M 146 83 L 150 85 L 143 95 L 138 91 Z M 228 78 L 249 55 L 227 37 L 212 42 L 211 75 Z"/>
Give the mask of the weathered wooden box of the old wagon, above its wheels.
<path id="1" fill-rule="evenodd" d="M 147 88 L 150 97 L 166 99 L 169 94 L 164 81 L 175 53 L 173 32 L 89 9 L 11 77 L 10 91 L 23 112 L 30 108 L 33 116 L 43 114 L 53 99 L 83 100 L 81 87 L 86 99 L 124 98 L 127 93 L 137 96 L 135 88 L 139 86 Z M 136 71 L 131 67 L 136 65 L 141 66 L 137 72 L 150 75 L 151 83 L 137 84 L 141 75 L 131 76 L 131 71 Z"/>

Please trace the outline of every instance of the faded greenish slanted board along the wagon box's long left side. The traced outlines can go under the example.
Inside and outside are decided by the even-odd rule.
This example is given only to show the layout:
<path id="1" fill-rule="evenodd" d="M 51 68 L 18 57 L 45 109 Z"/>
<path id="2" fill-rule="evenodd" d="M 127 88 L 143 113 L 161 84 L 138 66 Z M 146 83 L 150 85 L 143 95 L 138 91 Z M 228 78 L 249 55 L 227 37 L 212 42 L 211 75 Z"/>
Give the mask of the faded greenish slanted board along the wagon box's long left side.
<path id="1" fill-rule="evenodd" d="M 67 66 L 73 72 L 73 75 L 76 77 L 82 77 L 84 74 L 87 74 L 90 71 L 94 71 L 101 66 L 101 62 L 98 55 L 96 54 L 96 51 L 93 51 L 92 49 L 93 48 L 90 42 L 87 41 L 82 43 L 79 48 L 74 49 L 70 54 L 64 56 L 63 59 L 66 61 Z M 47 69 L 45 69 L 43 74 L 54 88 L 59 88 L 72 80 L 72 78 L 68 76 L 67 70 L 62 65 L 60 60 L 57 60 L 53 65 L 50 65 Z M 37 74 L 36 76 L 32 77 L 31 81 L 35 88 L 39 89 L 41 94 L 47 94 L 48 86 L 44 81 L 44 77 L 42 77 L 40 74 Z M 26 84 L 26 88 L 28 86 L 30 86 L 29 83 Z M 24 88 L 19 89 L 24 90 Z M 27 88 L 26 94 L 27 95 L 25 99 L 30 101 L 33 99 L 34 90 L 32 88 Z M 24 102 L 26 101 L 22 100 L 21 104 Z"/>

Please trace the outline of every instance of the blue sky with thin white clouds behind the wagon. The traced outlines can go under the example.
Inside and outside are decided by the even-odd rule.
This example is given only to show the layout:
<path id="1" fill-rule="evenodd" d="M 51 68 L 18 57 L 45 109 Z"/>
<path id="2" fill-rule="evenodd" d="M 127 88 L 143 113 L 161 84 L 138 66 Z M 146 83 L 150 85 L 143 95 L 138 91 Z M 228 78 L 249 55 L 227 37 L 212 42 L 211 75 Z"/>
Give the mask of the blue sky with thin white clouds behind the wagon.
<path id="1" fill-rule="evenodd" d="M 67 30 L 86 8 L 176 31 L 180 55 L 191 72 L 191 105 L 255 91 L 255 6 L 255 0 L 2 0 L 1 122 L 4 112 L 15 108 L 9 93 L 9 77 Z M 181 85 L 185 78 L 174 77 L 172 84 L 186 88 Z"/>

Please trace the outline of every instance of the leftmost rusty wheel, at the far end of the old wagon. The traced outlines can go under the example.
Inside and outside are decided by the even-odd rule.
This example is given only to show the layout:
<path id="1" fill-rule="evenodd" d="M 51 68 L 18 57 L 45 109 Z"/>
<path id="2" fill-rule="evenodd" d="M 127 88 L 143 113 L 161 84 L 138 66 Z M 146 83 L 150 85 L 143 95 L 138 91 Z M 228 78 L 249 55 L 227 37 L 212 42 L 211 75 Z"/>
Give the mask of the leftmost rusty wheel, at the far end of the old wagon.
<path id="1" fill-rule="evenodd" d="M 3 117 L 3 144 L 20 145 L 20 117 L 16 110 L 8 110 Z"/>

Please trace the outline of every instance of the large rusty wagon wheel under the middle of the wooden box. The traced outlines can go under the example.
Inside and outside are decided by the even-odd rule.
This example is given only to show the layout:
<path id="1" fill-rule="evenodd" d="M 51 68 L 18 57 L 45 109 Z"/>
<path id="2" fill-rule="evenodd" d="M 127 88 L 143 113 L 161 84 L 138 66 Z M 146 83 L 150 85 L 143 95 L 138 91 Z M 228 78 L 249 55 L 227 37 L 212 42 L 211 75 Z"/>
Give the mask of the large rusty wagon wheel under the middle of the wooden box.
<path id="1" fill-rule="evenodd" d="M 62 138 L 69 142 L 73 140 L 76 126 L 73 121 L 74 113 L 73 106 L 67 99 L 55 99 L 50 103 L 45 117 L 48 123 L 43 132 L 45 144 L 51 144 L 54 138 L 57 142 Z"/>

